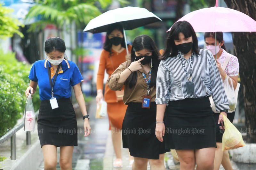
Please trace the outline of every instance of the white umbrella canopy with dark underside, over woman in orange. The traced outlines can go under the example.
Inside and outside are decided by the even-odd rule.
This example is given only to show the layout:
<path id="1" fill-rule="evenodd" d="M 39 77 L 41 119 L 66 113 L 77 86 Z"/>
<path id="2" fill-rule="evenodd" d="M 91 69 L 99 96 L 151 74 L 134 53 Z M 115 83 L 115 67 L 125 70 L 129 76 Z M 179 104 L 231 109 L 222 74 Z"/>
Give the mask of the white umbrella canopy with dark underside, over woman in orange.
<path id="1" fill-rule="evenodd" d="M 107 11 L 93 18 L 84 28 L 84 32 L 106 32 L 108 26 L 114 23 L 120 23 L 125 30 L 132 30 L 157 21 L 162 20 L 147 9 L 128 6 Z"/>

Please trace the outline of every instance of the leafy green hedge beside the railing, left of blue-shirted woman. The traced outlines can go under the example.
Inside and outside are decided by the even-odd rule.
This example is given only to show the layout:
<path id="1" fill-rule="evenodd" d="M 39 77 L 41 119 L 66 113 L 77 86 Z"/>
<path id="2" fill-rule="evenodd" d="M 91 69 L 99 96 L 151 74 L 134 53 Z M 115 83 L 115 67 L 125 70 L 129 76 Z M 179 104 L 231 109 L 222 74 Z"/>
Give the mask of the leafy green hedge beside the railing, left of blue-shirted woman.
<path id="1" fill-rule="evenodd" d="M 30 68 L 31 65 L 18 62 L 14 53 L 0 51 L 0 136 L 13 128 L 23 115 Z M 38 110 L 38 90 L 33 95 L 33 103 L 35 110 Z"/>

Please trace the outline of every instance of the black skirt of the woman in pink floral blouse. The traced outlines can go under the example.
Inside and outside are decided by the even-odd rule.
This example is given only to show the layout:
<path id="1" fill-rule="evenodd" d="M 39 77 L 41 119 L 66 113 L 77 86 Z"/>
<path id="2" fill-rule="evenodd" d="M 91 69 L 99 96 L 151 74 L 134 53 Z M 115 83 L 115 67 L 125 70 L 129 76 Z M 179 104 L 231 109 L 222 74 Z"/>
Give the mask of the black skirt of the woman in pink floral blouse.
<path id="1" fill-rule="evenodd" d="M 215 121 L 216 142 L 222 143 L 222 136 L 223 136 L 224 130 L 220 129 L 221 124 L 218 124 L 220 113 L 213 112 L 213 115 L 214 115 L 214 121 Z M 235 111 L 232 113 L 227 113 L 227 118 L 231 123 L 233 122 L 234 117 L 235 117 Z"/>

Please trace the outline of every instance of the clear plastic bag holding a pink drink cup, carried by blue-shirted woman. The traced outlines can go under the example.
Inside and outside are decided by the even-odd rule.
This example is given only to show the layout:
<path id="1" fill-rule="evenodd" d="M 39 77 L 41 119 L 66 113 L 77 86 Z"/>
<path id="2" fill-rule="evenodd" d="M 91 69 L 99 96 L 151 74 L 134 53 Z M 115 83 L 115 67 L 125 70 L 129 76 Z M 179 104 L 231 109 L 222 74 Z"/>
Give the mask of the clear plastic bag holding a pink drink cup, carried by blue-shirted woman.
<path id="1" fill-rule="evenodd" d="M 36 115 L 35 115 L 35 110 L 34 110 L 30 93 L 28 95 L 26 105 L 25 105 L 23 122 L 24 122 L 24 131 L 26 132 L 34 131 L 36 129 Z"/>

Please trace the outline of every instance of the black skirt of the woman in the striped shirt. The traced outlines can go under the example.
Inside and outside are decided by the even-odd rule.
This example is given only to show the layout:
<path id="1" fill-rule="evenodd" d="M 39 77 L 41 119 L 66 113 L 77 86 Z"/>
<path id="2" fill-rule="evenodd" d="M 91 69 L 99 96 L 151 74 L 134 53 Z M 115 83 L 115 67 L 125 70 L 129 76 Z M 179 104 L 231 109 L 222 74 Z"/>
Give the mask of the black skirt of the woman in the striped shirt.
<path id="1" fill-rule="evenodd" d="M 169 102 L 164 123 L 165 149 L 217 147 L 210 105 L 208 97 Z"/>

